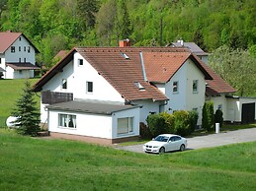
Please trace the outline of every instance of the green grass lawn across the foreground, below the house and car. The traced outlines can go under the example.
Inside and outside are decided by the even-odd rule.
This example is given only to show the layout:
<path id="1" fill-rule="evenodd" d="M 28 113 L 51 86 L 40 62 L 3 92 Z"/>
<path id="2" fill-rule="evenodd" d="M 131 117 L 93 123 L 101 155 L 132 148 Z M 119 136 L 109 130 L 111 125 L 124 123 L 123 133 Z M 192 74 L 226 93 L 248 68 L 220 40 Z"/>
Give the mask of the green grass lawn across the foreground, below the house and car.
<path id="1" fill-rule="evenodd" d="M 158 156 L 0 129 L 0 190 L 256 190 L 256 142 Z"/>

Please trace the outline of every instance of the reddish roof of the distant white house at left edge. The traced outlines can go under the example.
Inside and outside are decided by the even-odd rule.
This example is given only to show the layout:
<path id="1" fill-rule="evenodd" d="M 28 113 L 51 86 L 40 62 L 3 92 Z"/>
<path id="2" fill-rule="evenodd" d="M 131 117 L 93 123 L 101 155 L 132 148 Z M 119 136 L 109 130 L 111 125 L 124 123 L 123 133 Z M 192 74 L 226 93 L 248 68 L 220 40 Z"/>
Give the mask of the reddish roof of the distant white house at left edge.
<path id="1" fill-rule="evenodd" d="M 40 52 L 22 32 L 0 32 L 0 53 L 4 53 L 21 35 L 32 44 L 37 53 Z"/>

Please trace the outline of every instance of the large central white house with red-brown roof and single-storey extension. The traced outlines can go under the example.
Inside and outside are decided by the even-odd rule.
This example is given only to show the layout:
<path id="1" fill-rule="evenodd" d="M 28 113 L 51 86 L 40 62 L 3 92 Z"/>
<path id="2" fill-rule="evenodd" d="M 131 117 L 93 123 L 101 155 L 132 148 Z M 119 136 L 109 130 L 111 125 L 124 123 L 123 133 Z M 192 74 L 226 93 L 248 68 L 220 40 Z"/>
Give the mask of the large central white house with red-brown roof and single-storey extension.
<path id="1" fill-rule="evenodd" d="M 111 144 L 137 139 L 150 113 L 194 109 L 200 125 L 206 94 L 235 92 L 182 47 L 73 48 L 34 91 L 50 135 Z"/>

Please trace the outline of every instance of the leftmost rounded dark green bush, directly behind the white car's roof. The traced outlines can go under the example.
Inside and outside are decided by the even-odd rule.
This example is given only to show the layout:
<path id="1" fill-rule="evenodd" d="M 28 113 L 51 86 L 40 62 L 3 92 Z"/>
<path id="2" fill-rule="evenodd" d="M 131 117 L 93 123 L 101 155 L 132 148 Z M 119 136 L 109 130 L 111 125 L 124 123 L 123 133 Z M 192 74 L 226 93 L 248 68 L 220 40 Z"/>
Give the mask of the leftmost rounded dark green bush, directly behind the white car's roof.
<path id="1" fill-rule="evenodd" d="M 153 137 L 165 133 L 165 120 L 159 114 L 148 115 L 146 122 Z"/>

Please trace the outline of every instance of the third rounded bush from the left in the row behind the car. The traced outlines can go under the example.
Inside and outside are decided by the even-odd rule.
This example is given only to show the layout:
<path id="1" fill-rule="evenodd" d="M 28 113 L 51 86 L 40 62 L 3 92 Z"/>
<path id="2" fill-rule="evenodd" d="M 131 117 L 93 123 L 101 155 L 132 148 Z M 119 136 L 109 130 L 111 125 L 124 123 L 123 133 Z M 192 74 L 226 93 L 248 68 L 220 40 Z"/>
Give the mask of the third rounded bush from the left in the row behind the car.
<path id="1" fill-rule="evenodd" d="M 175 111 L 174 115 L 174 129 L 175 133 L 181 136 L 190 134 L 190 120 L 189 112 L 185 110 Z"/>

